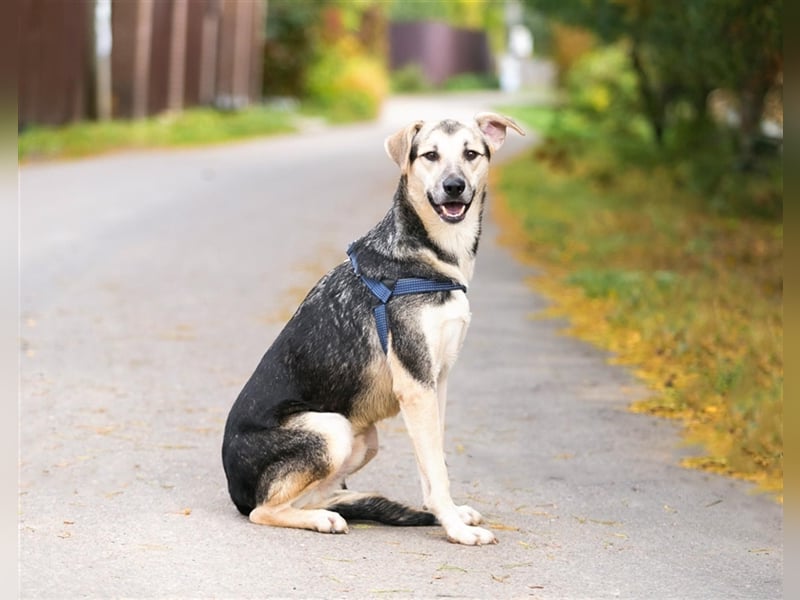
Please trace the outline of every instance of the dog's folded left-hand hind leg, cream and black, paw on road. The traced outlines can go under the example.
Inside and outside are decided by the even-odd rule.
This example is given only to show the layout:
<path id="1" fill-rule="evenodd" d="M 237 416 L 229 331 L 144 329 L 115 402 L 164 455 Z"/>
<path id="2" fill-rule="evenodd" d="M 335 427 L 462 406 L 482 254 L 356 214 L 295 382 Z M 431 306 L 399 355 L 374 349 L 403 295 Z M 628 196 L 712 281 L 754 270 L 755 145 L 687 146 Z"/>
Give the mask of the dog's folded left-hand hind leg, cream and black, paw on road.
<path id="1" fill-rule="evenodd" d="M 315 499 L 338 489 L 353 454 L 350 422 L 335 413 L 303 413 L 283 428 L 296 443 L 261 475 L 262 500 L 250 512 L 250 521 L 275 527 L 295 527 L 324 533 L 347 533 L 347 522 L 321 508 Z"/>

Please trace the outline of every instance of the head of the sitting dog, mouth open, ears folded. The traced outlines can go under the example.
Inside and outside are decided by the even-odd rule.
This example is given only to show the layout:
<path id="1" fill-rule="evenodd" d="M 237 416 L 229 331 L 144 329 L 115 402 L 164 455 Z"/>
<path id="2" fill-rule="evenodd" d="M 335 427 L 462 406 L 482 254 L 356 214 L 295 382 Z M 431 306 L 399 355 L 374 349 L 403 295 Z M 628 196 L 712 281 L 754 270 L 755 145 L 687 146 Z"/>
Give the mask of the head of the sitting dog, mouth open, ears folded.
<path id="1" fill-rule="evenodd" d="M 489 159 L 503 145 L 508 128 L 525 135 L 512 119 L 484 112 L 470 124 L 417 121 L 386 139 L 386 152 L 406 177 L 423 222 L 452 225 L 467 218 L 483 200 Z"/>

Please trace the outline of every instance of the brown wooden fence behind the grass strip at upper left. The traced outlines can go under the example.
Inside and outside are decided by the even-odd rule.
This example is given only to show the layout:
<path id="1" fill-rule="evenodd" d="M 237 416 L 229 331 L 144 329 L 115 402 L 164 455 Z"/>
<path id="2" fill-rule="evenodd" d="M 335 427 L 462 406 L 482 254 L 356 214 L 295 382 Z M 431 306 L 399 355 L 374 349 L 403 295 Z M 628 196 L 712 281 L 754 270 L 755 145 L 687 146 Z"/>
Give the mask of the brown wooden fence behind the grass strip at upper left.
<path id="1" fill-rule="evenodd" d="M 95 0 L 22 0 L 20 127 L 98 114 Z M 139 118 L 261 96 L 264 0 L 113 0 L 110 110 Z"/>

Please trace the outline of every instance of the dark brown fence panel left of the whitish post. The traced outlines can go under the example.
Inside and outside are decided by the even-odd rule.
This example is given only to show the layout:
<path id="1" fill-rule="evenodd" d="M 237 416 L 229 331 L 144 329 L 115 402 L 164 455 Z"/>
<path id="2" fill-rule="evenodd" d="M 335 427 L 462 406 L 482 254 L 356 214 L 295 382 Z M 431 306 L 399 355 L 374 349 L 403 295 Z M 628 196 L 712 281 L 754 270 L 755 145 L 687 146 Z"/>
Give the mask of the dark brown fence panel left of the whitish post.
<path id="1" fill-rule="evenodd" d="M 91 65 L 89 0 L 22 0 L 18 118 L 21 127 L 86 117 Z"/>

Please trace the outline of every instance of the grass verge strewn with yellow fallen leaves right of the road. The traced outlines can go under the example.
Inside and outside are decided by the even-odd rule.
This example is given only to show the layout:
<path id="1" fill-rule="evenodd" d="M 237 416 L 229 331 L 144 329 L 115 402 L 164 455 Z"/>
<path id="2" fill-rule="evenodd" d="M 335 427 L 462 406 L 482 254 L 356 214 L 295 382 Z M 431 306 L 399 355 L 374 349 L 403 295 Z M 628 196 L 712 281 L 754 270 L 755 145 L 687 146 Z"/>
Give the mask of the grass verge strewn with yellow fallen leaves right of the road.
<path id="1" fill-rule="evenodd" d="M 622 160 L 635 144 L 614 144 L 632 138 L 611 141 L 580 115 L 504 112 L 580 139 L 545 141 L 495 184 L 501 221 L 517 228 L 510 243 L 540 267 L 533 283 L 553 300 L 548 314 L 647 383 L 652 396 L 632 410 L 683 421 L 687 441 L 704 448 L 686 466 L 782 499 L 783 225 L 759 208 L 780 181 L 751 177 L 735 194 L 730 183 L 708 194 L 641 139 L 641 156 Z M 753 210 L 742 208 L 748 198 Z"/>

